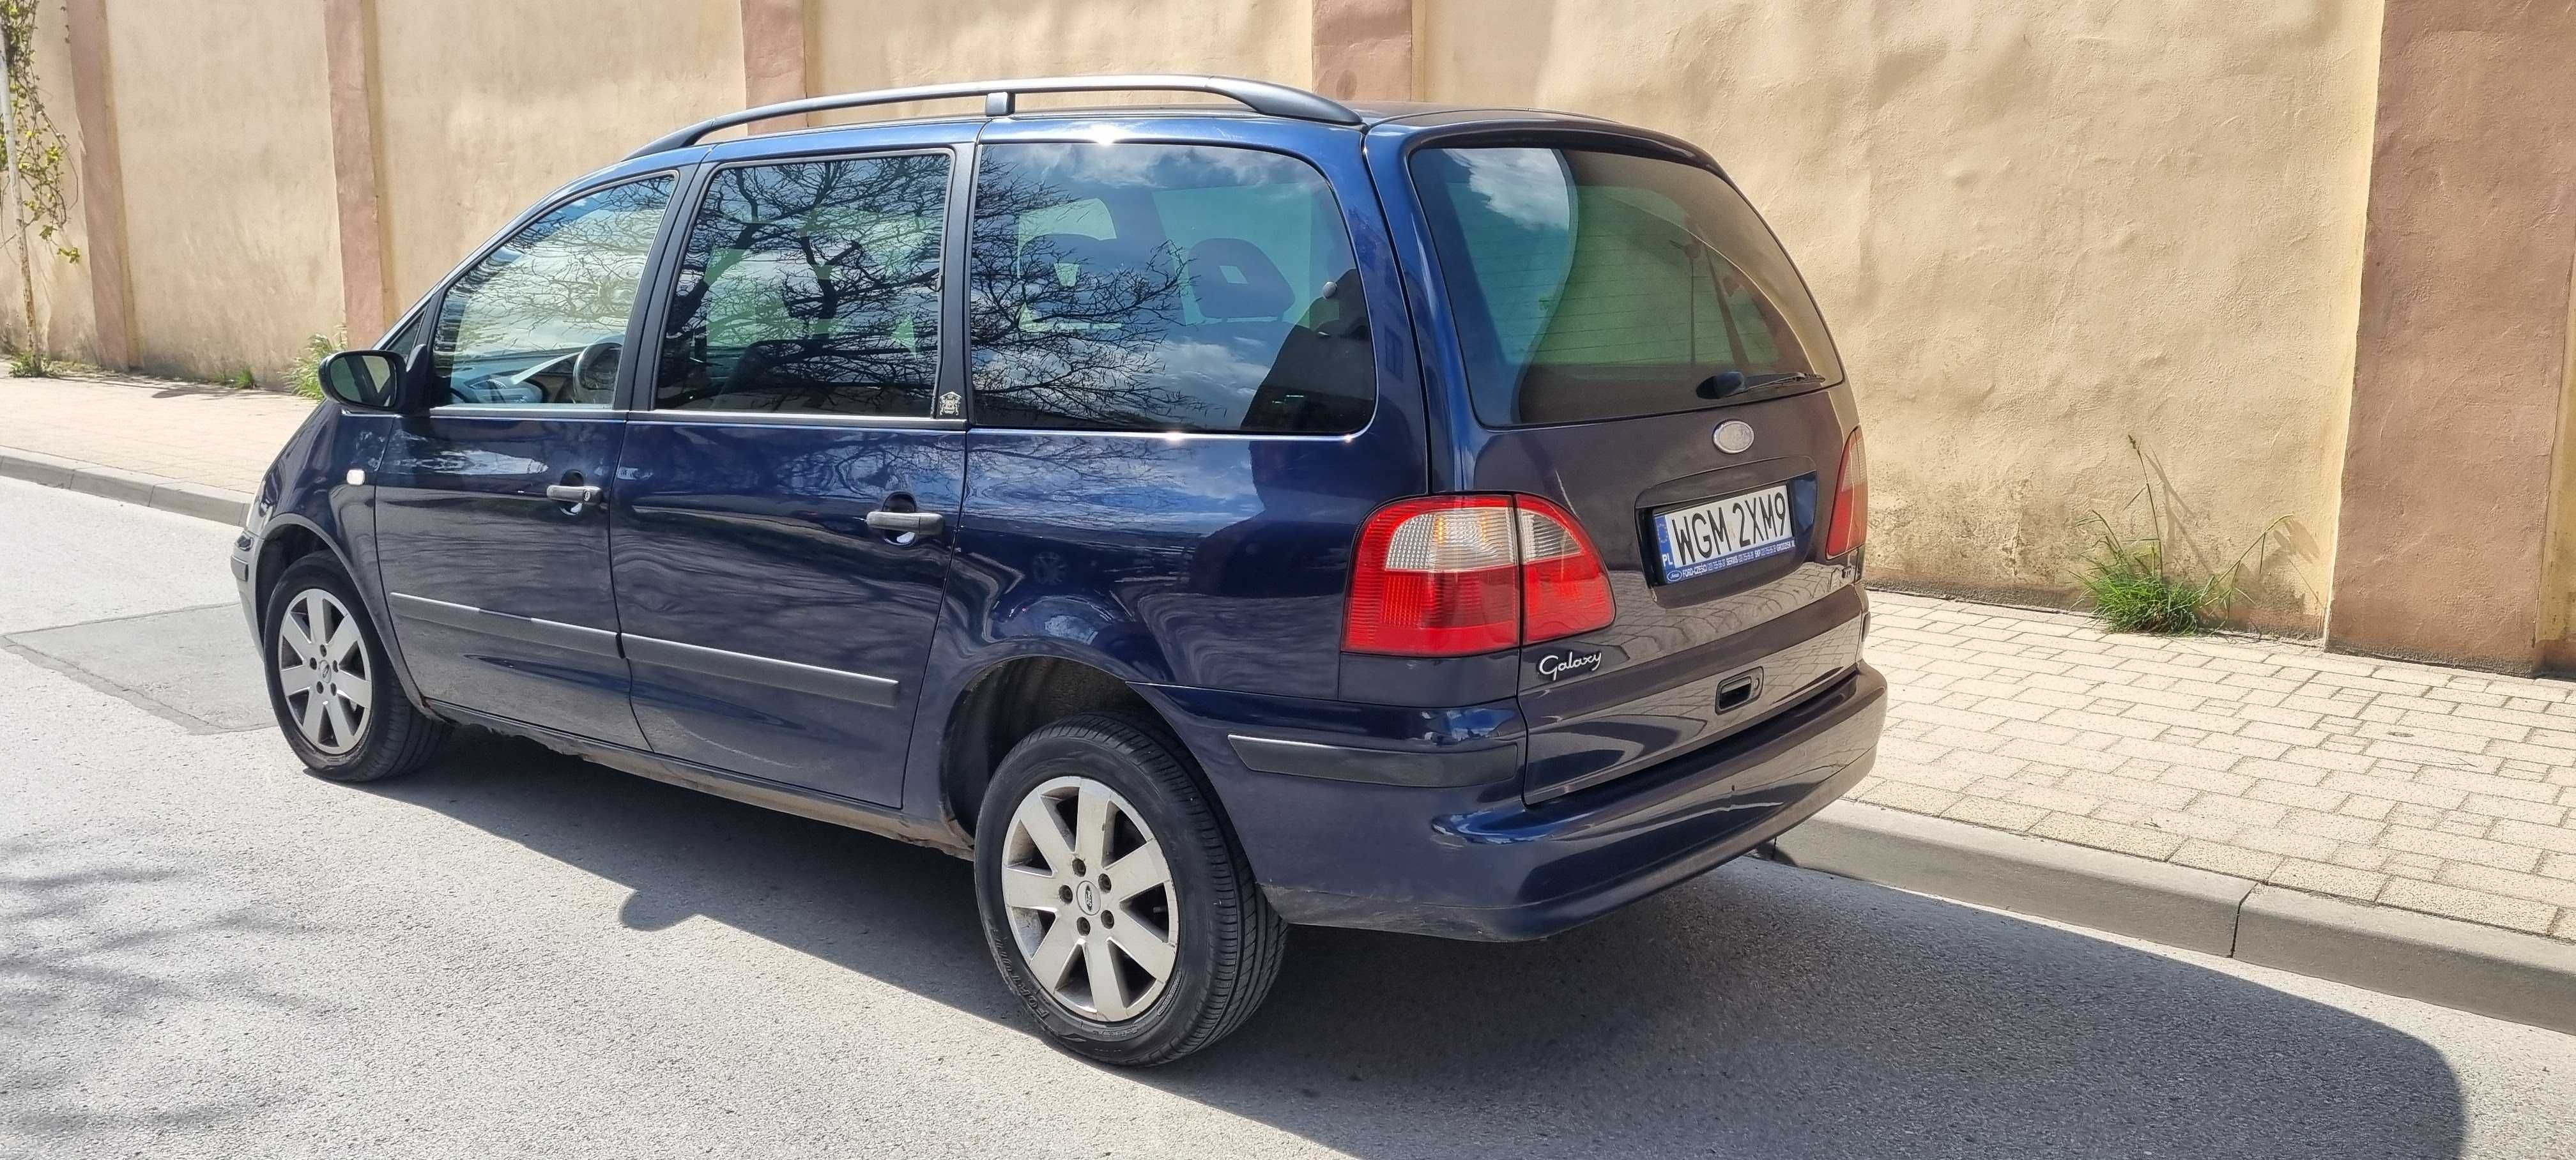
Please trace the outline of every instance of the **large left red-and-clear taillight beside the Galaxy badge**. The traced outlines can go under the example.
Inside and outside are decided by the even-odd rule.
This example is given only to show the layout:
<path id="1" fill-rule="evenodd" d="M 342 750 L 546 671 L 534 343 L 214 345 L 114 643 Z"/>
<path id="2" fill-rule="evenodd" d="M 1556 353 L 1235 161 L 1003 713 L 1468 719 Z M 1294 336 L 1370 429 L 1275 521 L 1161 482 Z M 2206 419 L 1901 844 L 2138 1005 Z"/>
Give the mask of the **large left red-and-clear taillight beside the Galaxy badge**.
<path id="1" fill-rule="evenodd" d="M 1466 657 L 1610 624 L 1610 572 L 1564 508 L 1535 495 L 1432 495 L 1360 528 L 1342 647 Z"/>

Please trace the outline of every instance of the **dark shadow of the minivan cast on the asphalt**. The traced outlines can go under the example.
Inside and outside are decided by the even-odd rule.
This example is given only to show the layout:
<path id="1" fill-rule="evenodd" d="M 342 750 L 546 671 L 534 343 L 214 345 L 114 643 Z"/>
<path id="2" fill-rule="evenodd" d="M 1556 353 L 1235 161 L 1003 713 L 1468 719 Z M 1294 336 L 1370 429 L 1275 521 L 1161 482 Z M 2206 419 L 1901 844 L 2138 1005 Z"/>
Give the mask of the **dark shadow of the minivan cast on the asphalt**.
<path id="1" fill-rule="evenodd" d="M 1025 1031 L 945 853 L 500 737 L 371 786 Z M 2414 1036 L 2190 962 L 1739 861 L 1535 943 L 1296 931 L 1267 1008 L 1136 1083 L 1365 1157 L 2452 1157 Z"/>

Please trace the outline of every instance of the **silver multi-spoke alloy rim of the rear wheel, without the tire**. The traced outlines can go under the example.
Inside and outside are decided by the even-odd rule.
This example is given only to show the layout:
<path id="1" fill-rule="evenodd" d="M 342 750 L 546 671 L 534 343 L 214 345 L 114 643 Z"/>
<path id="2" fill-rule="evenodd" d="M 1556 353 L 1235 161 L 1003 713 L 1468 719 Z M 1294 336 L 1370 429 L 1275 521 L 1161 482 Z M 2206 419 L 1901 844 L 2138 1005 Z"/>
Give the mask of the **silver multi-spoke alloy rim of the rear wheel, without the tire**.
<path id="1" fill-rule="evenodd" d="M 1002 907 L 1028 974 L 1066 1010 L 1121 1023 L 1172 977 L 1172 869 L 1115 789 L 1061 776 L 1030 789 L 1002 840 Z"/>

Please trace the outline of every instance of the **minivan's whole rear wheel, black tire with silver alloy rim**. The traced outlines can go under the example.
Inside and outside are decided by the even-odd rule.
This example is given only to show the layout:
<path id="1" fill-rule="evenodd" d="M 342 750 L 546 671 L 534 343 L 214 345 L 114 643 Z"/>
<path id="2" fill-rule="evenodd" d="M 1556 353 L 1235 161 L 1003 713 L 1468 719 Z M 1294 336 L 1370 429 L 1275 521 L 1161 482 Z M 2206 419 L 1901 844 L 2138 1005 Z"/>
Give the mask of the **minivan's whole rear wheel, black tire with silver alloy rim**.
<path id="1" fill-rule="evenodd" d="M 1164 1065 L 1231 1034 L 1270 992 L 1288 923 L 1159 722 L 1079 714 L 1028 735 L 976 817 L 984 938 L 1056 1047 Z M 1064 822 L 1054 851 L 1046 817 Z M 1064 866 L 1066 853 L 1079 866 Z M 1128 882 L 1121 866 L 1133 866 Z"/>

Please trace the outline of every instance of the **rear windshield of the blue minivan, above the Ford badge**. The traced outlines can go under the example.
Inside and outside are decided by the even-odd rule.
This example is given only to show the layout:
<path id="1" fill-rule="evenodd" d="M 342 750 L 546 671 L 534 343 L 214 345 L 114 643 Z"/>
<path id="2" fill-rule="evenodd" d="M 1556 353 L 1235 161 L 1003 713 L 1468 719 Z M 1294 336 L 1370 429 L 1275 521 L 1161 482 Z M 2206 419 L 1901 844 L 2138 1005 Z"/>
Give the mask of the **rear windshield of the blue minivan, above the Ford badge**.
<path id="1" fill-rule="evenodd" d="M 1752 204 L 1710 170 L 1597 150 L 1412 157 L 1476 418 L 1664 415 L 1842 379 Z"/>

